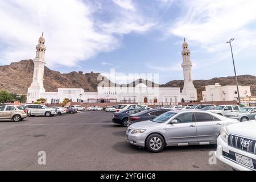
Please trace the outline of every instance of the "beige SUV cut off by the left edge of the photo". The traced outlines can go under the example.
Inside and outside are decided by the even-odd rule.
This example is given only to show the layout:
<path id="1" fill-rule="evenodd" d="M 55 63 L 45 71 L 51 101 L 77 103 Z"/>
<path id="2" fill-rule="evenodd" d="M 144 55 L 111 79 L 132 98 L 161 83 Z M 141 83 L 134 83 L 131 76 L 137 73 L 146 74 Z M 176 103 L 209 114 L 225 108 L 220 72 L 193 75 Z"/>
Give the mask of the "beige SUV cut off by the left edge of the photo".
<path id="1" fill-rule="evenodd" d="M 25 106 L 0 106 L 0 120 L 12 120 L 15 122 L 27 118 L 27 108 Z"/>

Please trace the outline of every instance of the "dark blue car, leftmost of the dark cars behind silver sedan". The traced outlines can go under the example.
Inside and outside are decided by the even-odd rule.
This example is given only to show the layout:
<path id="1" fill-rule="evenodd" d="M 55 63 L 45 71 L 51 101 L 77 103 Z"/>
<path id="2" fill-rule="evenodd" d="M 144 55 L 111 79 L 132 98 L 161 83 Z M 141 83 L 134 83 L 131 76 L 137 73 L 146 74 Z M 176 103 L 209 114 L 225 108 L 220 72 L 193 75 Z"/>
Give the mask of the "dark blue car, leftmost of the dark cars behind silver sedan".
<path id="1" fill-rule="evenodd" d="M 139 113 L 143 110 L 145 110 L 145 109 L 144 108 L 142 108 L 142 109 L 135 108 L 135 109 L 123 110 L 119 113 L 114 113 L 113 118 L 112 118 L 112 122 L 120 124 L 123 127 L 127 127 L 129 115 Z"/>

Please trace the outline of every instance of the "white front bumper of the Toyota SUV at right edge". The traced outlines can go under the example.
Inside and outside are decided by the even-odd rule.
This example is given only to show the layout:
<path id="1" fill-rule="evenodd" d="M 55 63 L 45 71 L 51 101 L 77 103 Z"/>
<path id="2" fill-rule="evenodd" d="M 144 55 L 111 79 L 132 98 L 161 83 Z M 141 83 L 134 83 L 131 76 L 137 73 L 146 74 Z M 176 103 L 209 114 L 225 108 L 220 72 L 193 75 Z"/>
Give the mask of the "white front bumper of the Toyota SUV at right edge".
<path id="1" fill-rule="evenodd" d="M 225 163 L 228 166 L 230 166 L 233 169 L 236 169 L 238 171 L 256 171 L 253 168 L 250 168 L 250 167 L 244 166 L 243 164 L 237 163 L 236 159 L 228 158 L 228 155 L 232 156 L 235 153 L 246 156 L 248 158 L 251 158 L 251 159 L 253 159 L 254 162 L 256 161 L 256 155 L 251 154 L 249 152 L 239 150 L 234 147 L 230 147 L 230 146 L 228 146 L 228 143 L 224 142 L 224 140 L 222 140 L 220 137 L 218 137 L 217 151 L 215 152 L 215 155 L 222 163 Z M 255 167 L 256 167 L 256 164 L 254 164 L 254 168 Z"/>

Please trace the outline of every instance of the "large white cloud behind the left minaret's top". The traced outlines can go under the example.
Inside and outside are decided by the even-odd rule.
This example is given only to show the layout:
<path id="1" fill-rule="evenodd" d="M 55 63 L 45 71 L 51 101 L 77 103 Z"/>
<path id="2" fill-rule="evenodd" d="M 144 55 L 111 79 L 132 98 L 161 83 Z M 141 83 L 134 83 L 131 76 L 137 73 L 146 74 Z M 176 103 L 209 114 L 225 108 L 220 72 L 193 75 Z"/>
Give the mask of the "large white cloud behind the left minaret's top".
<path id="1" fill-rule="evenodd" d="M 121 14 L 110 23 L 101 22 L 94 14 L 101 2 L 82 0 L 0 1 L 0 63 L 33 59 L 35 46 L 42 31 L 46 38 L 48 65 L 76 66 L 80 61 L 100 52 L 112 51 L 121 44 L 119 35 L 149 30 L 141 14 L 125 19 L 123 8 L 135 11 L 132 3 L 118 2 L 115 13 Z M 137 18 L 135 19 L 135 17 Z M 138 19 L 138 20 L 137 20 Z M 102 26 L 101 26 L 102 24 Z M 123 27 L 130 25 L 129 27 Z M 112 31 L 115 30 L 115 31 Z"/>

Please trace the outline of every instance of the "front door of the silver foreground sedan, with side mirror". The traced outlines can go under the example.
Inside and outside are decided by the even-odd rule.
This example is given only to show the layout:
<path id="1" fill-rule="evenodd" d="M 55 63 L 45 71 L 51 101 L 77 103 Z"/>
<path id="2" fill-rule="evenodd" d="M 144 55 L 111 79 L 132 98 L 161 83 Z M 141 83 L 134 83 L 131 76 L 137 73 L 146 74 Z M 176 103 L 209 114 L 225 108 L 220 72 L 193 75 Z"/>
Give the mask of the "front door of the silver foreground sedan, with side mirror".
<path id="1" fill-rule="evenodd" d="M 169 123 L 166 125 L 168 145 L 178 144 L 179 146 L 183 146 L 196 143 L 196 123 L 193 119 L 192 112 L 181 113 L 174 119 L 176 119 L 178 123 Z"/>

